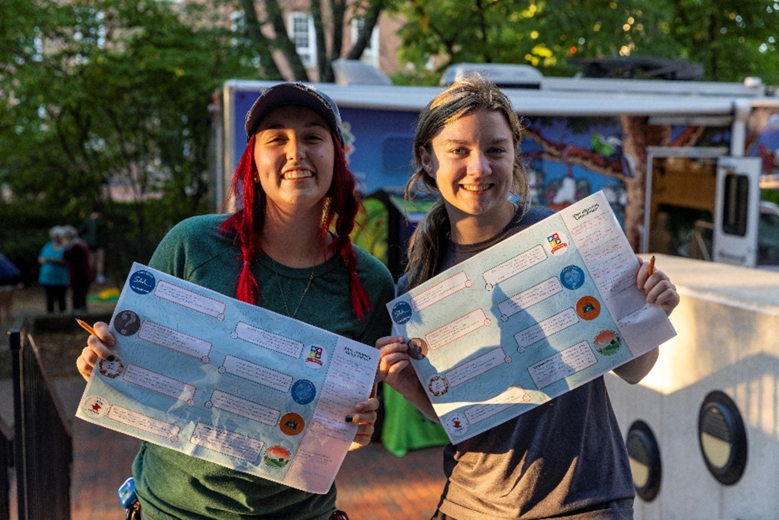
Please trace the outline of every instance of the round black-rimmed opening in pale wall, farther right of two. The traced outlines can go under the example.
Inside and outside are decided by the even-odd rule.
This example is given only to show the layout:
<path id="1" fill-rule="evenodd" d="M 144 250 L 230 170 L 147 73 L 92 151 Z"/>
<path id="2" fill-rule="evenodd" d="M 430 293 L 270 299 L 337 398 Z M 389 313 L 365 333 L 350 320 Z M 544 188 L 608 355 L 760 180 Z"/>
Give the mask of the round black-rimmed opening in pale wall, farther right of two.
<path id="1" fill-rule="evenodd" d="M 738 482 L 746 468 L 746 430 L 735 402 L 721 391 L 703 399 L 698 416 L 700 451 L 720 483 Z"/>

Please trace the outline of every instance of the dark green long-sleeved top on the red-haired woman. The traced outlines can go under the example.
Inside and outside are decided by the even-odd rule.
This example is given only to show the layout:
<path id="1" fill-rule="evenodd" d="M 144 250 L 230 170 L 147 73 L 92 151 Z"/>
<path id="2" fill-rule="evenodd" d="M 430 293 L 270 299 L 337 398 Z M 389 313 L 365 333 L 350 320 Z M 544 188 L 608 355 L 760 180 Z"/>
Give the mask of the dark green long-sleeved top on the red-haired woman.
<path id="1" fill-rule="evenodd" d="M 217 229 L 226 217 L 203 215 L 182 221 L 157 246 L 150 267 L 234 298 L 242 260 L 240 248 Z M 313 268 L 314 278 L 302 301 L 312 268 L 274 265 L 269 256 L 261 256 L 252 264 L 261 292 L 258 305 L 286 315 L 284 298 L 290 313 L 301 302 L 295 319 L 374 345 L 390 333 L 385 304 L 394 297 L 393 279 L 379 260 L 356 246 L 354 250 L 358 276 L 372 305 L 365 320 L 358 320 L 351 310 L 349 274 L 340 256 Z M 335 485 L 323 495 L 306 493 L 147 442 L 141 444 L 132 475 L 150 520 L 323 520 L 336 505 Z"/>

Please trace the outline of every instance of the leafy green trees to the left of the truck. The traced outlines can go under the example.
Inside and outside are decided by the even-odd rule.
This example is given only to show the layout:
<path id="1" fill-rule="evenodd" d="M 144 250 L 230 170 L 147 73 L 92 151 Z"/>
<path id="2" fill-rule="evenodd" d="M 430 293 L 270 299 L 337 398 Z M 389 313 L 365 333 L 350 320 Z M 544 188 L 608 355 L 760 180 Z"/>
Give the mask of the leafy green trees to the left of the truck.
<path id="1" fill-rule="evenodd" d="M 116 253 L 147 260 L 167 228 L 206 210 L 211 96 L 224 80 L 258 78 L 252 42 L 210 3 L 0 6 L 0 186 L 14 194 L 5 204 L 19 221 L 44 207 L 51 224 L 101 210 L 121 236 Z M 132 202 L 112 201 L 109 186 Z M 5 223 L 4 233 L 19 231 Z"/>

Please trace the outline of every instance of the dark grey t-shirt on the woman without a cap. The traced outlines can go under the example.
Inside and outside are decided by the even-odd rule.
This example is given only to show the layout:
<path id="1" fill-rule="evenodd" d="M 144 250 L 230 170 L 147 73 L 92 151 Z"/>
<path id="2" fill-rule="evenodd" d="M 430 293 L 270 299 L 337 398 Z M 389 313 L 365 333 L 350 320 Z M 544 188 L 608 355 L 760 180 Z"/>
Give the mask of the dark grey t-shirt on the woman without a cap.
<path id="1" fill-rule="evenodd" d="M 437 272 L 522 231 L 551 210 L 518 211 L 485 242 L 449 242 Z M 398 281 L 405 292 L 406 278 Z M 603 377 L 444 448 L 439 510 L 456 520 L 633 518 L 633 479 Z"/>

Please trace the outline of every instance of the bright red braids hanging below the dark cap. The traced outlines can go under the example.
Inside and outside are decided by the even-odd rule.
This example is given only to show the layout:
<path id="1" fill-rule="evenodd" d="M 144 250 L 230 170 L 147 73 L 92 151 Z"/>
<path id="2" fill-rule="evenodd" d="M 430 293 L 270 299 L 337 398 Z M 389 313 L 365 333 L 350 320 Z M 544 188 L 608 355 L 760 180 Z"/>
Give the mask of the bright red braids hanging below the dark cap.
<path id="1" fill-rule="evenodd" d="M 333 138 L 335 150 L 335 162 L 333 164 L 333 182 L 327 191 L 329 200 L 325 203 L 322 218 L 321 237 L 322 249 L 326 251 L 325 236 L 333 225 L 335 239 L 333 247 L 346 264 L 349 272 L 349 288 L 351 292 L 351 308 L 358 320 L 365 319 L 365 315 L 371 310 L 371 302 L 362 286 L 357 274 L 357 254 L 351 246 L 349 234 L 354 228 L 354 218 L 360 209 L 360 203 L 354 196 L 354 175 L 346 164 L 344 147 L 341 146 L 338 136 L 330 132 Z M 256 189 L 257 166 L 254 161 L 255 136 L 249 139 L 246 149 L 235 168 L 231 182 L 229 196 L 235 196 L 236 206 L 239 207 L 221 225 L 220 231 L 226 235 L 234 235 L 234 243 L 241 247 L 241 274 L 238 277 L 236 298 L 241 302 L 256 303 L 259 297 L 259 285 L 251 264 L 263 253 L 259 242 L 259 235 L 265 221 L 266 195 L 262 188 Z M 240 199 L 238 197 L 240 191 Z M 240 203 L 239 203 L 240 202 Z"/>

